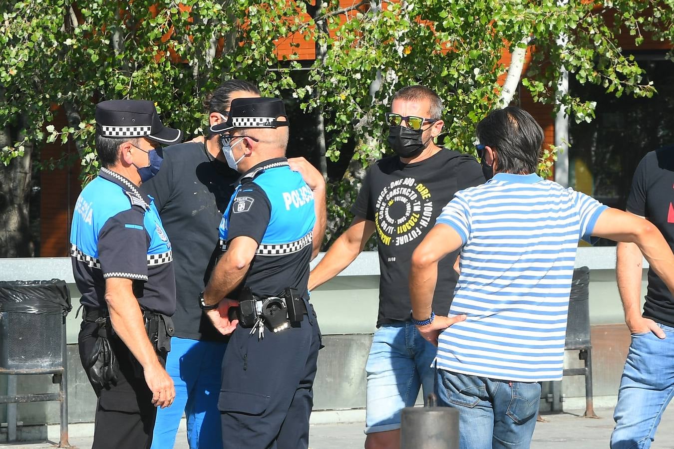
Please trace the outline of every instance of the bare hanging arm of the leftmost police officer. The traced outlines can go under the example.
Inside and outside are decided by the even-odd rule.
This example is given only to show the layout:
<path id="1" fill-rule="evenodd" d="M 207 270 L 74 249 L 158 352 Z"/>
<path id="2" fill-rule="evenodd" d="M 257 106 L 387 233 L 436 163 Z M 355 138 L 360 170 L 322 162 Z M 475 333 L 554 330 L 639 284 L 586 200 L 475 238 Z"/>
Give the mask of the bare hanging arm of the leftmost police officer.
<path id="1" fill-rule="evenodd" d="M 148 339 L 138 300 L 133 296 L 133 281 L 119 277 L 106 279 L 105 301 L 115 333 L 143 367 L 145 382 L 152 390 L 152 403 L 162 409 L 168 407 L 175 399 L 173 380 L 162 368 Z"/>

